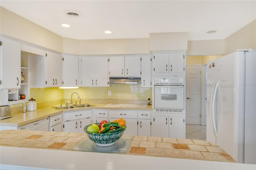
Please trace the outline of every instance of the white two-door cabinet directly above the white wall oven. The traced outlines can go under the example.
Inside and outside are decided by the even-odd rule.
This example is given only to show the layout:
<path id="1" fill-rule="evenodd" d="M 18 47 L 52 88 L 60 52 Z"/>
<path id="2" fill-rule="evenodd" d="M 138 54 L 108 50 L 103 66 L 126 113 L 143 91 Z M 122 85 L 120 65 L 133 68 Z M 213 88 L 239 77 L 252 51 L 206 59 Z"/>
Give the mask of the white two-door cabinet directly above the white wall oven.
<path id="1" fill-rule="evenodd" d="M 154 73 L 184 73 L 185 53 L 184 52 L 162 52 L 154 53 Z"/>

